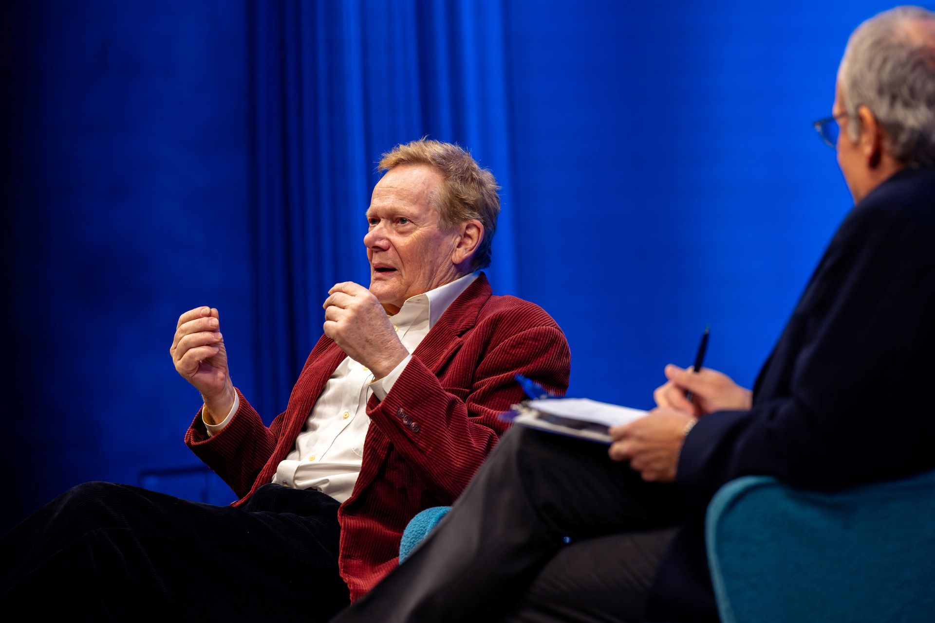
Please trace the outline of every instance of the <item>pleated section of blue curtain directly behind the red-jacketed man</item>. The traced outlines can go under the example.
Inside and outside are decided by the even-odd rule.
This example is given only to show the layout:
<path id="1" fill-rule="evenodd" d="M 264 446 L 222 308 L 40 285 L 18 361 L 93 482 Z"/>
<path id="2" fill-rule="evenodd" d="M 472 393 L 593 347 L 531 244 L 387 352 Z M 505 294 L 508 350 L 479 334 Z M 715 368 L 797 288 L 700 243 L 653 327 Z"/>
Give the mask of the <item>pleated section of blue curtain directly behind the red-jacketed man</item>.
<path id="1" fill-rule="evenodd" d="M 421 136 L 457 142 L 503 187 L 495 289 L 516 291 L 501 2 L 252 0 L 253 361 L 266 421 L 286 404 L 338 281 L 368 284 L 376 163 Z"/>

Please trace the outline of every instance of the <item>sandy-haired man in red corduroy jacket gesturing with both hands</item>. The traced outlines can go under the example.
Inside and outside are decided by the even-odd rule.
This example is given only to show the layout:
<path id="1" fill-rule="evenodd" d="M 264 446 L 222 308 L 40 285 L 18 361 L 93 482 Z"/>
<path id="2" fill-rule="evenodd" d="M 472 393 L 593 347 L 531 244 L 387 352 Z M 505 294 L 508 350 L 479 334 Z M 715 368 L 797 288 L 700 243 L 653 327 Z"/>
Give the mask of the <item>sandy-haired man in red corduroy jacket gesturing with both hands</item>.
<path id="1" fill-rule="evenodd" d="M 4 538 L 5 602 L 51 588 L 58 614 L 326 620 L 396 567 L 411 517 L 465 488 L 522 397 L 514 375 L 564 392 L 554 320 L 477 272 L 499 211 L 490 172 L 428 140 L 380 166 L 370 288 L 329 290 L 324 336 L 269 427 L 231 382 L 218 310 L 179 319 L 172 359 L 204 399 L 185 441 L 237 503 L 74 488 Z"/>

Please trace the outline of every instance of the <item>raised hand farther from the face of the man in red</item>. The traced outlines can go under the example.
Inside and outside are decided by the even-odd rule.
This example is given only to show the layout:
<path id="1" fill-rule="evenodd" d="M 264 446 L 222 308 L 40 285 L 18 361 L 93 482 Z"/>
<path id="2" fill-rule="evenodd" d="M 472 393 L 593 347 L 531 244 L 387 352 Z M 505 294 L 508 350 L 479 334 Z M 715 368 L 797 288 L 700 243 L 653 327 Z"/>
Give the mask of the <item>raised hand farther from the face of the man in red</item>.
<path id="1" fill-rule="evenodd" d="M 235 392 L 218 310 L 202 306 L 182 314 L 169 354 L 176 372 L 201 392 L 206 418 L 221 423 L 234 405 Z"/>

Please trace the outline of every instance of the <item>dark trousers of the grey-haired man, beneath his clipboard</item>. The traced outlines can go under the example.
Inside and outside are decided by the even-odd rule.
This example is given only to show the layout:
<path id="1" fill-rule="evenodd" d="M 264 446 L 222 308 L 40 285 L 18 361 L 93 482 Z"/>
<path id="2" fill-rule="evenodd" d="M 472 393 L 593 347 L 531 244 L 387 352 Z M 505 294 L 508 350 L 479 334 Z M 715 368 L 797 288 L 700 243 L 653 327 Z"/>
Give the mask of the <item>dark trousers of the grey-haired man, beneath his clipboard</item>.
<path id="1" fill-rule="evenodd" d="M 410 559 L 334 621 L 642 621 L 685 515 L 673 486 L 606 446 L 516 427 Z"/>

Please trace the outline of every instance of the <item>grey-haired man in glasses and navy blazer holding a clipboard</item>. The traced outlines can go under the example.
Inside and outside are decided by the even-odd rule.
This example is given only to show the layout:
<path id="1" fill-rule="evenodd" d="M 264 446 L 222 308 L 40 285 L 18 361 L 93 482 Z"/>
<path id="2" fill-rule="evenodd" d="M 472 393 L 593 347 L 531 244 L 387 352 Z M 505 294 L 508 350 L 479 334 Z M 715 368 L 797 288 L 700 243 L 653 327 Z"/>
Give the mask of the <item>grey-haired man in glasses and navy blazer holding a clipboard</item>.
<path id="1" fill-rule="evenodd" d="M 611 429 L 610 458 L 510 432 L 439 530 L 336 621 L 716 620 L 703 517 L 727 481 L 839 488 L 935 468 L 935 14 L 867 21 L 838 78 L 817 125 L 856 205 L 754 391 L 671 366 L 658 408 Z"/>

